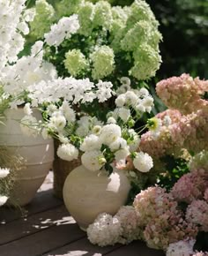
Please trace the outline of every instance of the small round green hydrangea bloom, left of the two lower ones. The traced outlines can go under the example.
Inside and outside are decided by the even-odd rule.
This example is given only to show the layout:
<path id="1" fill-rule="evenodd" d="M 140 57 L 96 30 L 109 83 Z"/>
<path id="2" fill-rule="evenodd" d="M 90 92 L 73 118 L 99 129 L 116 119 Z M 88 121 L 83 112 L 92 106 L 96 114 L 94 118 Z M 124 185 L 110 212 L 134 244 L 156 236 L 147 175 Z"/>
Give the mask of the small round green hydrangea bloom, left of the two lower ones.
<path id="1" fill-rule="evenodd" d="M 71 76 L 76 77 L 88 67 L 85 55 L 81 53 L 80 49 L 69 50 L 65 54 L 63 61 L 65 68 L 71 73 Z"/>

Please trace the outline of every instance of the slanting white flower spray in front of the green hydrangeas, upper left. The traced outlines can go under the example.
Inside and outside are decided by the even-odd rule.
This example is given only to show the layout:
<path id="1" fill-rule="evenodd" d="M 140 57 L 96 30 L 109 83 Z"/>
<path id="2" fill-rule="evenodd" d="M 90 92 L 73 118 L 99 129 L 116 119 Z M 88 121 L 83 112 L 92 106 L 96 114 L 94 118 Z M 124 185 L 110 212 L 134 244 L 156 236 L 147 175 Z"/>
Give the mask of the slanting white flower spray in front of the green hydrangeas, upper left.
<path id="1" fill-rule="evenodd" d="M 73 14 L 70 17 L 63 17 L 59 19 L 57 24 L 50 27 L 50 31 L 44 34 L 45 41 L 49 46 L 59 46 L 64 39 L 69 39 L 71 34 L 78 31 L 78 15 Z"/>

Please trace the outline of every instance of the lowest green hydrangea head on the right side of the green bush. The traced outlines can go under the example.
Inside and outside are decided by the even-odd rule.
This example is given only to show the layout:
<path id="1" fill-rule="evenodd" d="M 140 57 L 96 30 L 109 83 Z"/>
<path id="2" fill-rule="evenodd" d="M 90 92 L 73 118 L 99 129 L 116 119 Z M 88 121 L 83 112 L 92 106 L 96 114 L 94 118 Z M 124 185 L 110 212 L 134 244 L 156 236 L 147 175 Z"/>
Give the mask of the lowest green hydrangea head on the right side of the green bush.
<path id="1" fill-rule="evenodd" d="M 160 68 L 160 51 L 159 49 L 153 49 L 148 44 L 140 45 L 133 53 L 133 57 L 134 66 L 130 69 L 130 75 L 138 80 L 145 80 L 155 76 L 156 71 Z"/>

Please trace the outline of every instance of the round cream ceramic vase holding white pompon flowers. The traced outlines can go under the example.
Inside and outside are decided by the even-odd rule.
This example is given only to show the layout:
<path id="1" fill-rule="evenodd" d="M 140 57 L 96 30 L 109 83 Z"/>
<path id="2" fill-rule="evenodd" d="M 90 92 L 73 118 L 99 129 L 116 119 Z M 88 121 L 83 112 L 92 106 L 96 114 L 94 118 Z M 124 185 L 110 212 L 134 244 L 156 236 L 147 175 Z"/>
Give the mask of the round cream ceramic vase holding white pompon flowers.
<path id="1" fill-rule="evenodd" d="M 63 185 L 63 200 L 82 230 L 100 213 L 115 215 L 130 192 L 130 182 L 122 170 L 90 171 L 83 165 L 73 169 Z"/>

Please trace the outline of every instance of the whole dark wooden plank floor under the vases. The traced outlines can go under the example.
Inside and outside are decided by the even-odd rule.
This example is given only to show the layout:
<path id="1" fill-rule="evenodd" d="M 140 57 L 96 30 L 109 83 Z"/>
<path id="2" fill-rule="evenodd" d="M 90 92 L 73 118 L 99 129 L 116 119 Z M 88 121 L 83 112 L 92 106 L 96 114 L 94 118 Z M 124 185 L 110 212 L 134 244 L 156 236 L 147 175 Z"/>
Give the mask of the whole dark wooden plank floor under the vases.
<path id="1" fill-rule="evenodd" d="M 47 177 L 32 203 L 21 211 L 0 208 L 0 256 L 163 256 L 143 242 L 99 247 L 92 245 L 77 223 L 53 196 L 52 177 Z"/>

